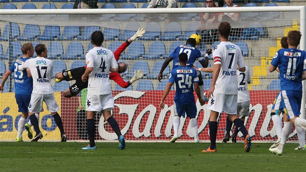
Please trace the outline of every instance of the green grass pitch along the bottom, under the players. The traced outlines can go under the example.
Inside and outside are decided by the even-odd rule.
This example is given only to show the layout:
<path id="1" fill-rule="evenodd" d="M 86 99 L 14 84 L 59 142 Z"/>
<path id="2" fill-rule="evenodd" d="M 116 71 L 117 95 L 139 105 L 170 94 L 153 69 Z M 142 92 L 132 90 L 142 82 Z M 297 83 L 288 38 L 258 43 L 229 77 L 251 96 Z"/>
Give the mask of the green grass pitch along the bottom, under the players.
<path id="1" fill-rule="evenodd" d="M 202 153 L 209 143 L 98 142 L 97 150 L 81 150 L 87 142 L 0 142 L 0 172 L 305 172 L 306 151 L 285 145 L 284 154 L 269 152 L 272 143 L 217 143 L 217 153 Z"/>

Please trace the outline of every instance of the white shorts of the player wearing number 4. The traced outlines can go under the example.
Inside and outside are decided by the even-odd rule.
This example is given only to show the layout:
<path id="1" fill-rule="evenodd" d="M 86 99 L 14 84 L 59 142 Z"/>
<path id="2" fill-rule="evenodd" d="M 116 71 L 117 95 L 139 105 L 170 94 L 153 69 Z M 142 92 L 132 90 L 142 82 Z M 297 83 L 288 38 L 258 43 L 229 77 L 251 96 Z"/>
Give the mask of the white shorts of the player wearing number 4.
<path id="1" fill-rule="evenodd" d="M 92 95 L 87 94 L 86 110 L 97 111 L 114 109 L 114 98 L 112 94 Z"/>

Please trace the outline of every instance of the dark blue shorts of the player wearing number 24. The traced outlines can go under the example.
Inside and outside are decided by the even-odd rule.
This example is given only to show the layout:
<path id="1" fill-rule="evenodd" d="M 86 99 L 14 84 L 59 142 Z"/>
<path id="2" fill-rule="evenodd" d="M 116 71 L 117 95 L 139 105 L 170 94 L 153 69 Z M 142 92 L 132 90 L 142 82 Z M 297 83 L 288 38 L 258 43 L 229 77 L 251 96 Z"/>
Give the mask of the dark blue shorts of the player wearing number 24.
<path id="1" fill-rule="evenodd" d="M 187 117 L 189 118 L 195 118 L 197 116 L 197 106 L 195 105 L 195 102 L 191 102 L 188 104 L 179 104 L 175 103 L 175 110 L 176 110 L 176 115 L 179 117 L 184 117 L 185 118 L 185 112 Z"/>

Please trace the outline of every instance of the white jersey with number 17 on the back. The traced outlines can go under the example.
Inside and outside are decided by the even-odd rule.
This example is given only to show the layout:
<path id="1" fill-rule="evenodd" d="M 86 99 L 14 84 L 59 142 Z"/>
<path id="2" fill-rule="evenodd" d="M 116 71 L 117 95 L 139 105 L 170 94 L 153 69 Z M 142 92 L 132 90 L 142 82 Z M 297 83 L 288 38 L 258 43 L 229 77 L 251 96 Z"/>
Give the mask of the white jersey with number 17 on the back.
<path id="1" fill-rule="evenodd" d="M 35 94 L 53 94 L 51 78 L 53 77 L 53 62 L 45 57 L 31 58 L 18 66 L 18 70 L 29 68 L 33 78 Z"/>

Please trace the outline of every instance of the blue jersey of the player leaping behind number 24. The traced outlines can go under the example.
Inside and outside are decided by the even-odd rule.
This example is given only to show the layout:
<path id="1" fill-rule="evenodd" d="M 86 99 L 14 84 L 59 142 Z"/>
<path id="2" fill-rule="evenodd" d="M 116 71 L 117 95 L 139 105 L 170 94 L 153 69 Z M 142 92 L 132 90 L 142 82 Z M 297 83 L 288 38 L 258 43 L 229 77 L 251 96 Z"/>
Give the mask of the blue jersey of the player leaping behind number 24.
<path id="1" fill-rule="evenodd" d="M 181 46 L 177 47 L 170 54 L 170 57 L 173 58 L 173 67 L 172 67 L 172 69 L 177 68 L 178 66 L 180 66 L 180 62 L 178 61 L 178 55 L 180 53 L 182 53 L 182 52 L 185 52 L 188 55 L 187 66 L 189 66 L 189 67 L 191 67 L 195 63 L 196 59 L 198 59 L 199 62 L 204 60 L 200 50 L 198 50 L 197 48 L 192 47 L 191 45 L 181 45 Z"/>

